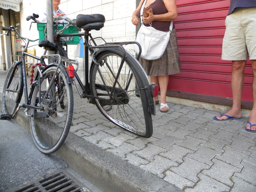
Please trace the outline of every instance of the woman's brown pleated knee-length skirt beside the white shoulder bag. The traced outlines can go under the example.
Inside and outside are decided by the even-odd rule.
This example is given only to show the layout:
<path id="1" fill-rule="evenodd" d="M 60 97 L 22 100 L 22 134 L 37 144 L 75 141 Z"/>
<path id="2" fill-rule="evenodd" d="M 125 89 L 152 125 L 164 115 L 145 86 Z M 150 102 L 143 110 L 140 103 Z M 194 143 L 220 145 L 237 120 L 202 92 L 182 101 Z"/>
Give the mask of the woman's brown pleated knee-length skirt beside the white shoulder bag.
<path id="1" fill-rule="evenodd" d="M 170 41 L 162 57 L 157 60 L 139 59 L 148 76 L 173 75 L 180 72 L 181 64 L 175 28 L 170 34 Z"/>

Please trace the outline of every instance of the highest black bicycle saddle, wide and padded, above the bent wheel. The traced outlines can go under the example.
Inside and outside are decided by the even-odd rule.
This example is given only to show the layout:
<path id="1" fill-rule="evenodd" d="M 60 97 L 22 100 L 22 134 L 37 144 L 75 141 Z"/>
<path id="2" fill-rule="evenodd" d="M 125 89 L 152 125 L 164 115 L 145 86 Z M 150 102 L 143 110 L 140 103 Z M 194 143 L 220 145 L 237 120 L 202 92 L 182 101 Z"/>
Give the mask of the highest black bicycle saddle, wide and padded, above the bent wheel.
<path id="1" fill-rule="evenodd" d="M 100 30 L 105 23 L 105 16 L 102 14 L 76 16 L 76 26 L 84 29 L 85 31 Z"/>

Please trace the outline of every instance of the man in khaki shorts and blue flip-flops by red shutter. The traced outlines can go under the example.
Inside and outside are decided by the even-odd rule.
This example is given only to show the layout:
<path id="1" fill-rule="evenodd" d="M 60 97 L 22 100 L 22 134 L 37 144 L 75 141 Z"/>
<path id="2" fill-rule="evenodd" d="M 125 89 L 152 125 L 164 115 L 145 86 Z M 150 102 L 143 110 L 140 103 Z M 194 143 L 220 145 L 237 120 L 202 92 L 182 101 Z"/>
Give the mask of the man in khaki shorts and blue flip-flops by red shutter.
<path id="1" fill-rule="evenodd" d="M 231 0 L 226 17 L 226 31 L 222 45 L 222 59 L 232 61 L 232 108 L 215 116 L 217 121 L 240 119 L 244 69 L 249 58 L 253 70 L 253 108 L 246 131 L 256 132 L 256 0 Z"/>

